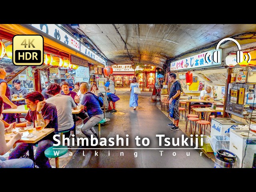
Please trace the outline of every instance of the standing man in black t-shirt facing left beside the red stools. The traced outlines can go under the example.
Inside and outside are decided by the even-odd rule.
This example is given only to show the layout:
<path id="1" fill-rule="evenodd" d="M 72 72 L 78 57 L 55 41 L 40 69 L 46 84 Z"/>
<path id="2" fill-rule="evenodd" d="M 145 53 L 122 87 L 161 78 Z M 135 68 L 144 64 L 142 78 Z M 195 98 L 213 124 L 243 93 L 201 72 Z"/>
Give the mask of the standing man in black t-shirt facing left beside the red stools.
<path id="1" fill-rule="evenodd" d="M 169 113 L 170 117 L 174 119 L 173 123 L 167 124 L 170 126 L 170 130 L 176 131 L 179 130 L 179 120 L 180 120 L 180 112 L 179 112 L 179 106 L 180 106 L 180 82 L 176 80 L 176 74 L 171 73 L 169 74 L 169 82 L 172 83 L 172 86 L 170 88 L 170 94 L 169 94 Z"/>

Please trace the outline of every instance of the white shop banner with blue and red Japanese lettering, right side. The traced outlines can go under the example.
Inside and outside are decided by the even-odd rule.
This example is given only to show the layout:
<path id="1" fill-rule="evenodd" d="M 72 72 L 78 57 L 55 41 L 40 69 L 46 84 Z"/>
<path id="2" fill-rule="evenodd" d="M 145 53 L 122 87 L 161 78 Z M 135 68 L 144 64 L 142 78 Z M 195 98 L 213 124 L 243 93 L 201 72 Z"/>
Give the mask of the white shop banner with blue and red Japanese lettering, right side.
<path id="1" fill-rule="evenodd" d="M 172 62 L 170 63 L 170 71 L 205 68 L 209 66 L 221 65 L 221 62 L 216 63 L 212 60 L 212 55 L 215 51 L 215 49 L 210 50 L 188 58 L 184 58 L 182 60 Z M 222 58 L 222 49 L 218 51 L 220 51 L 220 58 Z M 205 60 L 205 58 L 207 60 Z"/>

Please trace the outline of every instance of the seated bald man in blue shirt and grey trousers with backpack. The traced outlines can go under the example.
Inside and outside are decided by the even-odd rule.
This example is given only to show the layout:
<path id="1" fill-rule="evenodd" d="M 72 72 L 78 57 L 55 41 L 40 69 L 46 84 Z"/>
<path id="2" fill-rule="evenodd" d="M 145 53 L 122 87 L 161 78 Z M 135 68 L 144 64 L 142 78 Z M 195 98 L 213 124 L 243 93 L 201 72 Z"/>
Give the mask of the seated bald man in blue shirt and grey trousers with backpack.
<path id="1" fill-rule="evenodd" d="M 101 102 L 101 100 L 99 100 L 101 98 L 95 96 L 89 91 L 88 83 L 82 83 L 80 85 L 80 92 L 81 94 L 84 94 L 80 109 L 86 108 L 89 116 L 89 118 L 84 120 L 84 125 L 82 126 L 81 131 L 88 138 L 90 143 L 91 136 L 98 139 L 94 126 L 104 118 L 104 113 L 100 106 L 101 104 L 103 105 L 103 100 Z M 96 141 L 94 140 L 94 144 L 95 142 Z"/>

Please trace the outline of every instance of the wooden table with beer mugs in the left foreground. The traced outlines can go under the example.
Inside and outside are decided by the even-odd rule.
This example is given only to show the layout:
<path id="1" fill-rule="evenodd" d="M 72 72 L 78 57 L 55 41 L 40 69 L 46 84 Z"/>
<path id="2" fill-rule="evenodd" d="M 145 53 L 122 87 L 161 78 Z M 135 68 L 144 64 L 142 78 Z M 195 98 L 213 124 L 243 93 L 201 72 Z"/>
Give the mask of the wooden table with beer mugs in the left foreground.
<path id="1" fill-rule="evenodd" d="M 12 129 L 12 131 L 10 133 L 5 134 L 4 137 L 5 137 L 6 142 L 10 141 L 10 139 L 12 138 L 12 137 L 10 137 L 10 135 L 14 131 L 19 132 L 18 129 L 19 128 L 16 127 L 15 129 Z M 34 130 L 33 130 L 34 137 L 27 138 L 26 136 L 28 135 L 28 131 L 22 131 L 22 133 L 23 133 L 22 138 L 20 140 L 18 140 L 17 142 L 30 144 L 30 147 L 28 149 L 28 154 L 29 154 L 29 158 L 34 161 L 33 144 L 35 144 L 36 142 L 38 142 L 39 140 L 41 140 L 42 138 L 44 138 L 45 136 L 49 135 L 52 132 L 54 132 L 54 128 L 44 128 L 44 130 L 40 133 L 37 133 L 36 128 L 34 128 Z M 16 145 L 16 143 L 15 143 L 15 145 Z"/>

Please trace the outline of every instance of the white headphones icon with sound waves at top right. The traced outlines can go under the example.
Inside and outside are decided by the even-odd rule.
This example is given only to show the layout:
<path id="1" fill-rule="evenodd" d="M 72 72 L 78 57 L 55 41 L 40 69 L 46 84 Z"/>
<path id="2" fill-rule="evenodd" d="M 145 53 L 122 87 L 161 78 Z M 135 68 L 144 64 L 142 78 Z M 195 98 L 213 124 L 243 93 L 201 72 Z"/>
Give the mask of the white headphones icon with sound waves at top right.
<path id="1" fill-rule="evenodd" d="M 235 42 L 236 46 L 238 47 L 238 51 L 236 52 L 236 62 L 238 62 L 238 63 L 242 62 L 243 61 L 243 52 L 241 51 L 241 46 L 236 40 L 234 40 L 232 38 L 224 38 L 224 39 L 220 40 L 220 42 L 218 42 L 218 44 L 216 46 L 216 50 L 219 49 L 220 44 L 224 41 Z M 247 55 L 245 55 L 245 60 L 247 60 Z M 213 53 L 213 61 L 216 63 L 220 62 L 220 51 L 215 51 Z M 250 55 L 250 53 L 248 53 L 248 61 L 247 62 L 249 63 L 250 61 L 251 61 L 251 55 Z"/>

